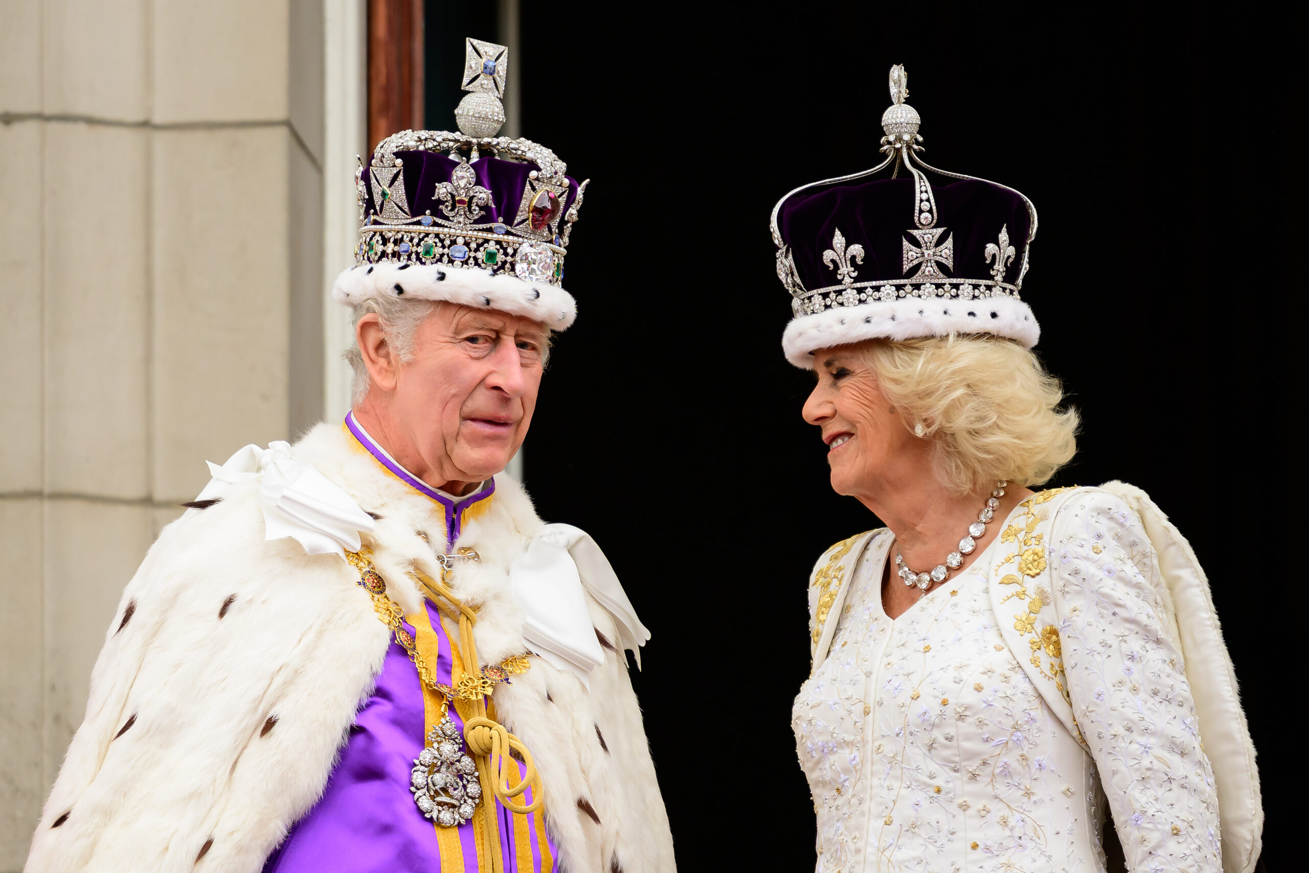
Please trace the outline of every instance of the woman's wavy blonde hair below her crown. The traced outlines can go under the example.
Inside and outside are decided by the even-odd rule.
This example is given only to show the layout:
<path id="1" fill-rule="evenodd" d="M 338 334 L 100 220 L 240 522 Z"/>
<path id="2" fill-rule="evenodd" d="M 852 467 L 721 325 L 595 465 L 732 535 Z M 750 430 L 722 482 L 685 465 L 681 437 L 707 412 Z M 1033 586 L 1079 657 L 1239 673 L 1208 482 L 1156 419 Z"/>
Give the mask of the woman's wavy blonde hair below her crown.
<path id="1" fill-rule="evenodd" d="M 872 340 L 864 353 L 905 427 L 932 440 L 936 475 L 958 493 L 997 479 L 1043 484 L 1077 452 L 1077 411 L 1059 408 L 1063 386 L 1012 340 Z"/>

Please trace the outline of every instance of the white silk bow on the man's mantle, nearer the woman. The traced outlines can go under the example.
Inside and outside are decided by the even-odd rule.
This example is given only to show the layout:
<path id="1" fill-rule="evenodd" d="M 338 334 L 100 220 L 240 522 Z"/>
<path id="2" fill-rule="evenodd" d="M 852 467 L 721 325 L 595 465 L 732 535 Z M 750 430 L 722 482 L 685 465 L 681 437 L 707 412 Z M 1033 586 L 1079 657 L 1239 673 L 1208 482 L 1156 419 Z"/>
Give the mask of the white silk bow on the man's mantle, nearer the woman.
<path id="1" fill-rule="evenodd" d="M 590 688 L 590 671 L 605 662 L 585 593 L 614 616 L 620 649 L 641 665 L 640 647 L 651 639 L 636 618 L 614 568 L 586 531 L 546 525 L 509 567 L 509 581 L 526 618 L 522 636 L 542 658 L 573 673 Z"/>

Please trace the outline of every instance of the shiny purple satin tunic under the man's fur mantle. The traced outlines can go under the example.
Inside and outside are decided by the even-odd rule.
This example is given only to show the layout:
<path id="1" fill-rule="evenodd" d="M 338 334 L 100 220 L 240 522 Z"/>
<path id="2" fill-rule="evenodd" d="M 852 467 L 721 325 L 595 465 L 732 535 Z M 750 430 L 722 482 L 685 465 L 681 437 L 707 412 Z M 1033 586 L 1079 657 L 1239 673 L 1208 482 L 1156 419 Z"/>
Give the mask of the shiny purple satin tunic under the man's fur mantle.
<path id="1" fill-rule="evenodd" d="M 449 683 L 450 640 L 431 603 L 427 603 L 427 614 L 440 640 L 436 681 Z M 414 633 L 407 623 L 404 630 Z M 454 707 L 450 707 L 450 719 L 462 734 L 463 720 Z M 393 640 L 377 677 L 377 688 L 355 717 L 322 800 L 291 828 L 281 847 L 264 863 L 263 873 L 475 873 L 473 822 L 459 827 L 465 869 L 441 870 L 435 826 L 414 804 L 410 772 L 414 759 L 423 751 L 423 728 L 418 669 L 404 648 Z M 505 872 L 530 873 L 516 860 L 513 815 L 499 802 L 496 809 Z M 558 857 L 552 840 L 550 847 Z M 534 870 L 541 870 L 535 840 L 531 852 Z"/>

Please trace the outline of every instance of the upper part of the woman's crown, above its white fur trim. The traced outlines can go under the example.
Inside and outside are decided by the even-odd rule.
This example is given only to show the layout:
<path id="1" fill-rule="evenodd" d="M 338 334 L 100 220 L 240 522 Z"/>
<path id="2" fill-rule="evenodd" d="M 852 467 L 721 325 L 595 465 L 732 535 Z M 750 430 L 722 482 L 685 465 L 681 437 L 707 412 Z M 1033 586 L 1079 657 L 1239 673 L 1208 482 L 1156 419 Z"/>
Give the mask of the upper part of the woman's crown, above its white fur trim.
<path id="1" fill-rule="evenodd" d="M 927 164 L 918 132 L 922 118 L 906 102 L 908 76 L 902 65 L 891 68 L 888 85 L 891 106 L 882 115 L 882 162 L 800 186 L 772 209 L 778 277 L 796 315 L 902 298 L 1021 300 L 1037 232 L 1031 202 L 1008 186 Z M 888 168 L 891 179 L 902 181 L 884 186 L 868 178 Z M 945 177 L 936 179 L 940 190 L 928 174 Z M 979 185 L 956 188 L 956 181 Z M 1020 217 L 1024 209 L 1028 215 Z M 863 238 L 838 233 L 838 245 L 823 236 L 831 234 L 834 223 Z M 1012 238 L 1013 233 L 1024 238 Z M 983 241 L 990 242 L 983 247 Z M 855 246 L 869 257 L 868 264 L 853 255 Z M 1009 270 L 1014 262 L 1017 270 Z"/>

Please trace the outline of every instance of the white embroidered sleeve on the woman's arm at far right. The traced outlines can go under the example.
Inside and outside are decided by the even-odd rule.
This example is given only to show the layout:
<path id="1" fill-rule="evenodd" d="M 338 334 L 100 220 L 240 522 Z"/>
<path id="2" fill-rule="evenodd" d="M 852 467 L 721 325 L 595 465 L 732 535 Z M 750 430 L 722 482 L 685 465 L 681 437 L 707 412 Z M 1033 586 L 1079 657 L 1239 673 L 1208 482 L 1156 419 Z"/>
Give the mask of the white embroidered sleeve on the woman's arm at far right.
<path id="1" fill-rule="evenodd" d="M 1068 695 L 1127 869 L 1221 873 L 1213 771 L 1181 649 L 1143 575 L 1155 555 L 1140 520 L 1088 491 L 1059 512 L 1051 539 Z"/>

